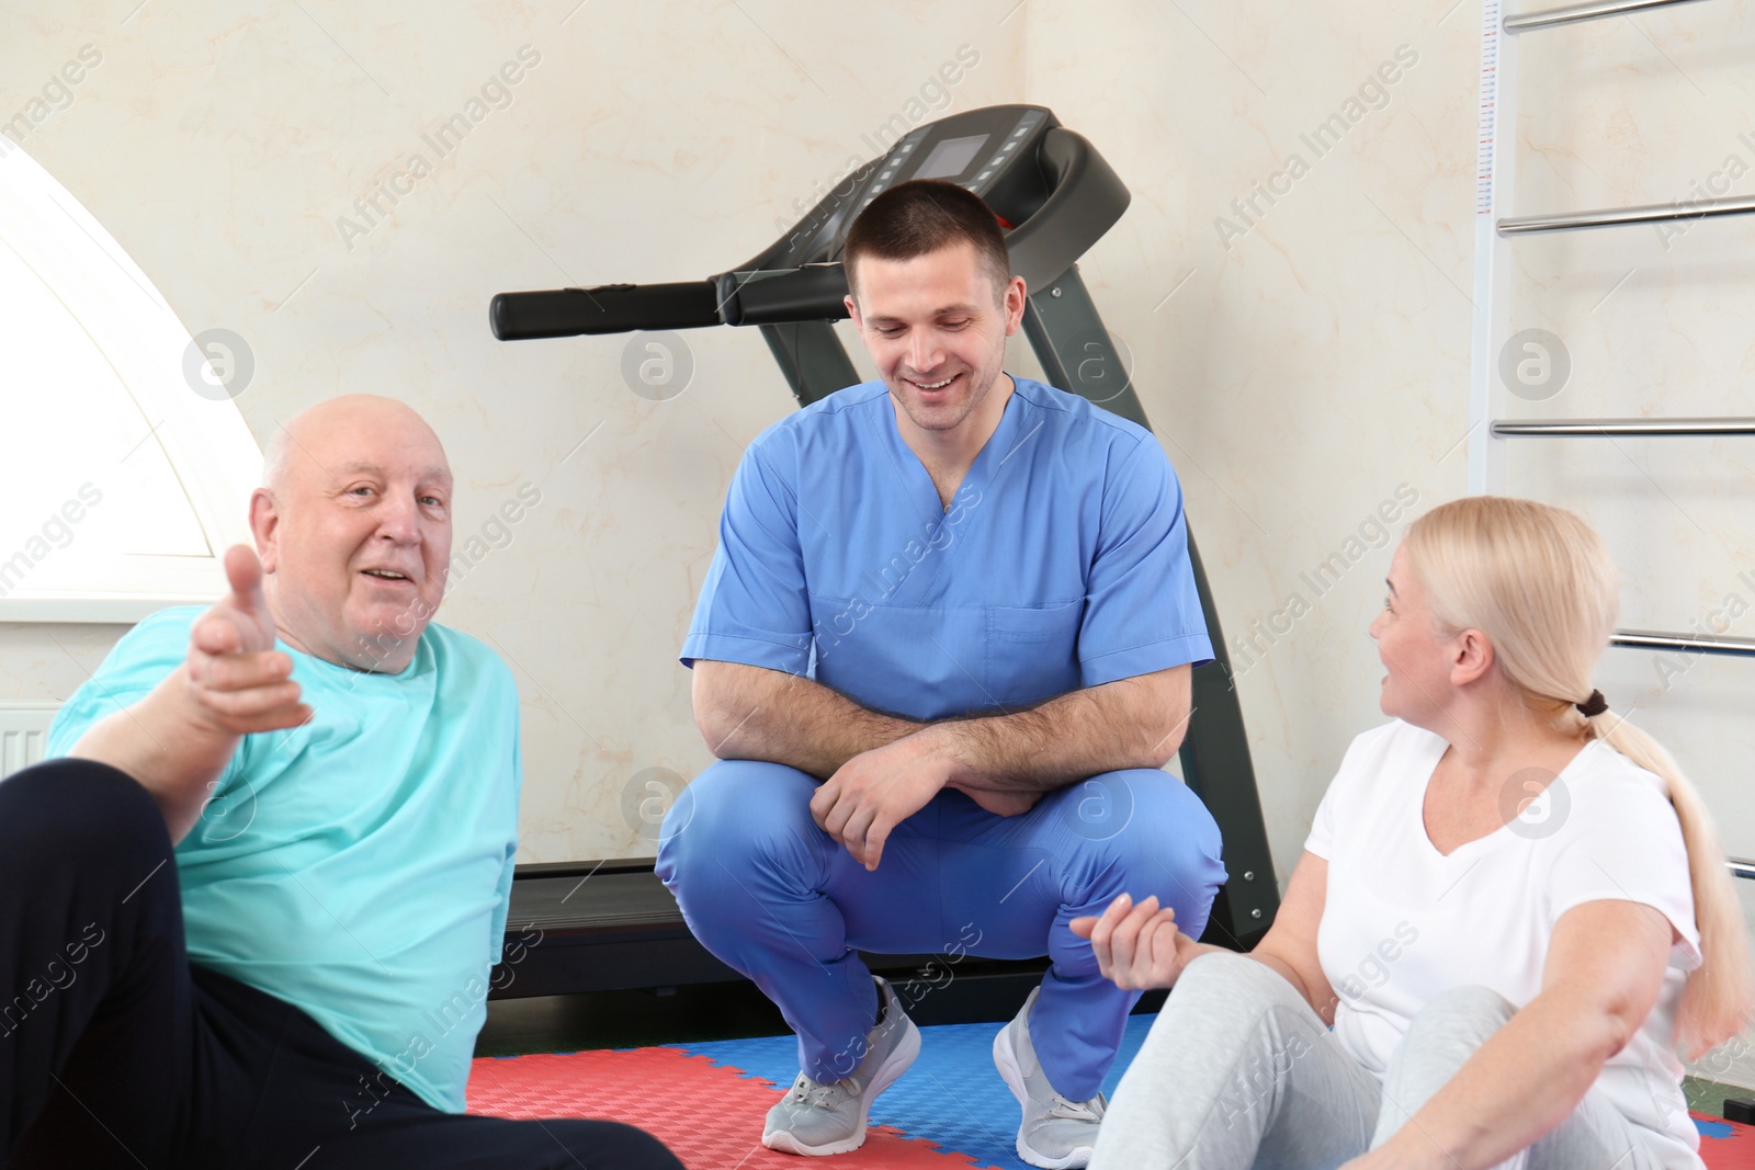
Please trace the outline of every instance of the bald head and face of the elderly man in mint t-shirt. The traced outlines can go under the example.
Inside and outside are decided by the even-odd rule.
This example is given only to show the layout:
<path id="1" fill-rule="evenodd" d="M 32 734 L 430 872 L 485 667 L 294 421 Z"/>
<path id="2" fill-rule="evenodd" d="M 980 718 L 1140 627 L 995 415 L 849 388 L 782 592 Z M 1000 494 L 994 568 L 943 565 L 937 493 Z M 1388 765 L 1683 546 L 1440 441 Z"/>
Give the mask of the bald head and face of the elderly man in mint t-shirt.
<path id="1" fill-rule="evenodd" d="M 276 435 L 251 528 L 281 639 L 395 674 L 444 598 L 451 467 L 400 402 L 335 398 Z"/>

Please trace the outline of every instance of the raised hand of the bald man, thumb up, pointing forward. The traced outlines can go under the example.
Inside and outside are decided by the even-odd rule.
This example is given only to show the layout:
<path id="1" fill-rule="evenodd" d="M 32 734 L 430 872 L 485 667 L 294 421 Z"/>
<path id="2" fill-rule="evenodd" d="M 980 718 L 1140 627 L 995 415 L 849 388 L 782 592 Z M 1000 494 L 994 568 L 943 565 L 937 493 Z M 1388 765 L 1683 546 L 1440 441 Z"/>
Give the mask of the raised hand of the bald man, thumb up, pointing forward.
<path id="1" fill-rule="evenodd" d="M 293 660 L 274 649 L 274 614 L 261 593 L 261 561 L 246 546 L 225 554 L 232 591 L 190 631 L 188 696 L 200 717 L 232 735 L 297 728 L 311 719 L 291 681 Z"/>

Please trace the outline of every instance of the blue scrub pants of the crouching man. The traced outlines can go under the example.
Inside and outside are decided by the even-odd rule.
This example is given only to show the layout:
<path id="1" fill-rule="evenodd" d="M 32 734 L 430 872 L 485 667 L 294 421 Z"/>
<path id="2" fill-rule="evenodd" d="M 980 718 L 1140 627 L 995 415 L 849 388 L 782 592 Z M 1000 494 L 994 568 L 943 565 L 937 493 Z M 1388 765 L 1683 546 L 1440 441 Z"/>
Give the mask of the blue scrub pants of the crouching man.
<path id="1" fill-rule="evenodd" d="M 702 945 L 779 1007 L 820 1082 L 853 1070 L 876 1023 L 855 949 L 1046 954 L 1030 1040 L 1049 1084 L 1090 1100 L 1139 993 L 1106 981 L 1067 923 L 1121 893 L 1157 895 L 1199 937 L 1225 881 L 1213 816 L 1164 772 L 1106 772 L 1014 817 L 942 791 L 895 828 L 872 874 L 811 819 L 816 788 L 777 763 L 714 763 L 665 817 L 658 875 Z"/>

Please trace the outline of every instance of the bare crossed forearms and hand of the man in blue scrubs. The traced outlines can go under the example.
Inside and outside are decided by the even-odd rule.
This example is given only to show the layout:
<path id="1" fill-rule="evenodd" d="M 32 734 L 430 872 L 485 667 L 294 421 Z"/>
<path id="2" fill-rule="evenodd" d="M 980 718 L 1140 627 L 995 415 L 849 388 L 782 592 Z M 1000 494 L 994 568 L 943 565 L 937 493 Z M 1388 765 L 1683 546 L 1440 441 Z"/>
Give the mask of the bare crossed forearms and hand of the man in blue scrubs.
<path id="1" fill-rule="evenodd" d="M 811 816 L 876 870 L 890 831 L 942 788 L 1014 816 L 1088 775 L 1162 768 L 1188 726 L 1190 674 L 1171 667 L 1014 714 L 918 723 L 860 707 L 811 679 L 698 660 L 693 702 L 720 760 L 767 760 L 828 777 Z"/>

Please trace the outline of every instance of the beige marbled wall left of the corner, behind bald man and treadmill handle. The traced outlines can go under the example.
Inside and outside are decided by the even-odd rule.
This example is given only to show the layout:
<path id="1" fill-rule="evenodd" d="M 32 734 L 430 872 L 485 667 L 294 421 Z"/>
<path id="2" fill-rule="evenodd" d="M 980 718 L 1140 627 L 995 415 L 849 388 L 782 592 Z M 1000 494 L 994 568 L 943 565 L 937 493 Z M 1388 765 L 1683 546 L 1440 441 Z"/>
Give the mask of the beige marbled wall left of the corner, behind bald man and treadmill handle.
<path id="1" fill-rule="evenodd" d="M 491 639 L 523 696 L 523 858 L 651 854 L 623 795 L 709 760 L 676 651 L 742 444 L 793 402 L 755 332 L 690 333 L 686 393 L 651 402 L 623 381 L 625 339 L 500 344 L 488 298 L 742 263 L 892 118 L 1020 98 L 1023 16 L 133 7 L 0 11 L 0 121 L 26 111 L 26 149 L 191 332 L 247 340 L 239 407 L 258 439 L 346 391 L 433 421 L 460 475 L 458 547 L 479 556 L 442 619 Z M 84 46 L 100 60 L 32 105 Z M 978 61 L 944 84 L 960 49 Z M 442 135 L 456 114 L 462 140 Z M 526 484 L 541 503 L 484 531 Z M 0 702 L 65 698 L 116 635 L 0 628 Z"/>

